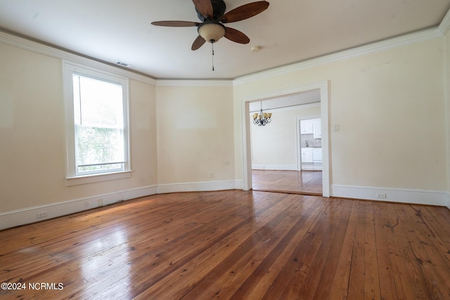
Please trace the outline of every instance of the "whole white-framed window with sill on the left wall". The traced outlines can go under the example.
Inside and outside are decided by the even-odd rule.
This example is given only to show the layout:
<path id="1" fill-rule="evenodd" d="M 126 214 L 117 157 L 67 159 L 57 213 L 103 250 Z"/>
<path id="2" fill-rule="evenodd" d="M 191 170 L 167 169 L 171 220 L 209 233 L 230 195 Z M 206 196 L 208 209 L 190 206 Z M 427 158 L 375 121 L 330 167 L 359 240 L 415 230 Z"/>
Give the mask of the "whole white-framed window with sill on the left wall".
<path id="1" fill-rule="evenodd" d="M 65 62 L 63 70 L 68 181 L 123 178 L 117 173 L 130 170 L 128 80 L 74 63 Z M 68 185 L 81 183 L 86 179 Z"/>

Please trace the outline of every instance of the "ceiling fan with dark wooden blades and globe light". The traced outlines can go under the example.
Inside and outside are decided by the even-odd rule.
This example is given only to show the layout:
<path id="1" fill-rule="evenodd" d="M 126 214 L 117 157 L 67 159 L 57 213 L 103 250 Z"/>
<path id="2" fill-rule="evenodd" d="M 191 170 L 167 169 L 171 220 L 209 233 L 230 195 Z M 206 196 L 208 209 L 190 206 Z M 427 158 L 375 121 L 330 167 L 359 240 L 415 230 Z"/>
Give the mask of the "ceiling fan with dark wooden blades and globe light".
<path id="1" fill-rule="evenodd" d="M 256 1 L 249 4 L 244 4 L 238 8 L 225 13 L 226 5 L 223 0 L 192 0 L 197 11 L 198 18 L 202 22 L 190 21 L 157 21 L 152 22 L 152 25 L 167 26 L 167 27 L 198 27 L 198 37 L 192 44 L 191 49 L 197 50 L 206 41 L 215 43 L 221 37 L 226 37 L 230 41 L 235 41 L 239 44 L 248 44 L 250 39 L 231 27 L 225 27 L 224 23 L 238 22 L 262 13 L 269 7 L 267 1 Z"/>

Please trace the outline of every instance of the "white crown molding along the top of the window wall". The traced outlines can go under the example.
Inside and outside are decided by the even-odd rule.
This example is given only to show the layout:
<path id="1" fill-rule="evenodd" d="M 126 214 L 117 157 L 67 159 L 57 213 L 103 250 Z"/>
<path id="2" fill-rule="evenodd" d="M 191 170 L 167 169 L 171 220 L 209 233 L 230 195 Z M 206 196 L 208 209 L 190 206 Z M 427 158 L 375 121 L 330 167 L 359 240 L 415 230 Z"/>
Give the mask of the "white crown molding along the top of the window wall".
<path id="1" fill-rule="evenodd" d="M 30 39 L 25 39 L 23 37 L 18 37 L 13 34 L 8 34 L 6 32 L 0 31 L 0 43 L 7 44 L 10 46 L 15 46 L 18 48 L 25 49 L 27 51 L 32 51 L 34 53 L 43 54 L 44 56 L 50 56 L 53 58 L 58 58 L 61 60 L 69 60 L 74 63 L 80 63 L 82 65 L 87 65 L 89 67 L 95 67 L 96 69 L 111 72 L 114 74 L 121 75 L 123 77 L 128 77 L 129 79 L 135 79 L 138 81 L 143 81 L 148 84 L 156 84 L 156 80 L 151 77 L 146 77 L 129 70 L 124 70 L 115 65 L 109 65 L 108 63 L 103 63 L 98 60 L 93 60 L 91 58 L 85 58 L 79 56 L 75 53 L 70 53 L 58 48 L 53 48 L 51 46 L 46 46 L 40 44 L 37 41 L 31 41 Z"/>

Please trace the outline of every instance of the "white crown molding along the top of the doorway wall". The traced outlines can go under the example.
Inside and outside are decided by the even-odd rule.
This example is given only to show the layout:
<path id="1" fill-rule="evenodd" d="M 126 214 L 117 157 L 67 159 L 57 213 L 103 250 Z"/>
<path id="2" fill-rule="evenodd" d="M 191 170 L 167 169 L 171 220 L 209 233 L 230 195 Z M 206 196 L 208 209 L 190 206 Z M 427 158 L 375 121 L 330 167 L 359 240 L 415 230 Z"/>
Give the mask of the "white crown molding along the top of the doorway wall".
<path id="1" fill-rule="evenodd" d="M 449 13 L 447 13 L 446 22 L 450 22 L 450 16 Z M 443 21 L 444 22 L 444 21 Z M 441 23 L 442 24 L 442 23 Z M 445 25 L 443 25 L 442 28 L 444 28 Z M 446 26 L 449 27 L 448 25 Z M 244 84 L 249 81 L 255 81 L 259 79 L 266 79 L 271 77 L 280 76 L 283 74 L 288 74 L 292 72 L 299 72 L 301 70 L 307 70 L 311 69 L 313 67 L 319 67 L 321 65 L 327 65 L 330 63 L 336 63 L 341 60 L 349 60 L 352 58 L 358 58 L 360 56 L 366 56 L 371 53 L 377 53 L 380 51 L 386 51 L 392 48 L 398 48 L 401 46 L 407 46 L 410 44 L 416 44 L 420 43 L 422 41 L 428 41 L 430 39 L 437 39 L 439 37 L 443 37 L 444 34 L 442 33 L 441 27 L 435 27 L 429 30 L 423 30 L 420 32 L 414 32 L 411 34 L 405 34 L 401 37 L 394 37 L 392 39 L 387 39 L 384 41 L 378 41 L 373 44 L 368 44 L 365 46 L 359 46 L 356 48 L 352 48 L 345 51 L 340 51 L 336 53 L 331 53 L 326 56 L 321 56 L 319 58 L 312 58 L 310 60 L 304 60 L 299 63 L 293 63 L 291 65 L 286 65 L 283 67 L 276 67 L 271 70 L 266 70 L 262 72 L 257 72 L 254 74 L 249 74 L 243 77 L 238 77 L 233 80 L 234 85 L 238 84 Z"/>

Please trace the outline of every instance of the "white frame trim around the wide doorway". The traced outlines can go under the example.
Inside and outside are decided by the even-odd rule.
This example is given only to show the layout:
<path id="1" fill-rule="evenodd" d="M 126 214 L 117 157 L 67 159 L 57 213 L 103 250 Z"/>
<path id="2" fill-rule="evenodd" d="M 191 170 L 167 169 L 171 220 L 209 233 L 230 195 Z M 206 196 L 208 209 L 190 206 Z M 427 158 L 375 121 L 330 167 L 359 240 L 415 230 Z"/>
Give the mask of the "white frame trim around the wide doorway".
<path id="1" fill-rule="evenodd" d="M 243 136 L 243 190 L 252 188 L 252 155 L 250 141 L 250 102 L 277 98 L 281 96 L 319 90 L 321 94 L 321 126 L 322 126 L 322 195 L 330 197 L 330 148 L 329 148 L 329 122 L 328 122 L 328 81 L 320 81 L 315 84 L 295 86 L 291 89 L 259 93 L 241 98 L 241 121 Z"/>

